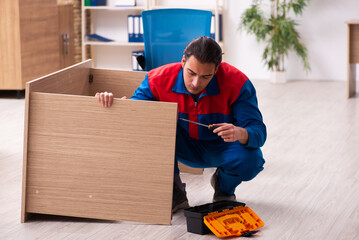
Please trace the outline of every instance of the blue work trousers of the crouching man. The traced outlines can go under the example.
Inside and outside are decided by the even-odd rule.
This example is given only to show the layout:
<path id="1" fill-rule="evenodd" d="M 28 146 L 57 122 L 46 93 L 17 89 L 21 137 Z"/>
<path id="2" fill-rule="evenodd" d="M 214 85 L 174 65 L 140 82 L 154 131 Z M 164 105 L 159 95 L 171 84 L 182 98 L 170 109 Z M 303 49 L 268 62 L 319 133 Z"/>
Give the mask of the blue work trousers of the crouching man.
<path id="1" fill-rule="evenodd" d="M 177 127 L 175 173 L 177 161 L 195 168 L 218 168 L 221 192 L 234 194 L 242 181 L 249 181 L 263 170 L 264 159 L 259 148 L 246 148 L 241 143 L 226 143 L 222 139 L 201 141 L 190 138 Z"/>

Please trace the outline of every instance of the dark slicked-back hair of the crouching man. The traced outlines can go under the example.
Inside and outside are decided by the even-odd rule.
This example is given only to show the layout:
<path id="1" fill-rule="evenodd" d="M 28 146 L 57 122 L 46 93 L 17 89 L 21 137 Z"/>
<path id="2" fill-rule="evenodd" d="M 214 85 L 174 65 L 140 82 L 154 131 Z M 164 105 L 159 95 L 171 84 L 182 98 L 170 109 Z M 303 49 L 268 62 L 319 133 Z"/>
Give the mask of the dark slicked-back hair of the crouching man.
<path id="1" fill-rule="evenodd" d="M 195 56 L 201 63 L 214 63 L 217 67 L 222 62 L 222 49 L 219 44 L 210 37 L 198 37 L 187 44 L 183 51 L 185 59 Z"/>

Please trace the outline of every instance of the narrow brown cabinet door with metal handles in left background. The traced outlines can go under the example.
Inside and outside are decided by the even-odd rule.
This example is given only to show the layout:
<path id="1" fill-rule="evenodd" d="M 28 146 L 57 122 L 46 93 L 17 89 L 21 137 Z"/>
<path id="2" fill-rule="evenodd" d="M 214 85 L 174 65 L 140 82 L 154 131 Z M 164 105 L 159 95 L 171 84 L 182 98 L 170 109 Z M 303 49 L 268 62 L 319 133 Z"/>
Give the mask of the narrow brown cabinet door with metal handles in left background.
<path id="1" fill-rule="evenodd" d="M 60 68 L 74 64 L 74 17 L 72 4 L 58 5 Z"/>

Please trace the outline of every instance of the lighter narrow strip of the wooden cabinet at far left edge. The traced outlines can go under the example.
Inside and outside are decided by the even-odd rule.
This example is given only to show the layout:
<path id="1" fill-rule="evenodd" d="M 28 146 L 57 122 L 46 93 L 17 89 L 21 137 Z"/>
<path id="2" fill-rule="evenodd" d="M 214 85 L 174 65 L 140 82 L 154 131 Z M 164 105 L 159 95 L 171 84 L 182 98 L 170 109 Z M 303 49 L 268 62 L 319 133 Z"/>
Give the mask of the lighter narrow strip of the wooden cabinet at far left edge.
<path id="1" fill-rule="evenodd" d="M 0 29 L 0 89 L 21 89 L 18 1 L 0 1 Z"/>

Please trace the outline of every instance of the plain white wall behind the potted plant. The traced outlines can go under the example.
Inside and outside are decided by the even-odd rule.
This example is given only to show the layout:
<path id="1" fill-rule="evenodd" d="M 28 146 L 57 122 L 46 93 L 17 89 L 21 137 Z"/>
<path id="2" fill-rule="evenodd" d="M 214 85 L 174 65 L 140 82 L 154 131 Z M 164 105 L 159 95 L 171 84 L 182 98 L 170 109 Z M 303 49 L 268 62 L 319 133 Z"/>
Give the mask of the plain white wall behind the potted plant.
<path id="1" fill-rule="evenodd" d="M 263 0 L 269 4 L 269 0 Z M 262 62 L 264 44 L 237 30 L 240 16 L 251 0 L 226 0 L 224 39 L 226 62 L 241 69 L 251 79 L 269 79 Z M 294 54 L 286 59 L 289 80 L 341 80 L 347 77 L 347 25 L 359 19 L 359 0 L 311 0 L 298 18 L 298 31 L 306 45 L 311 71 L 303 70 Z"/>

